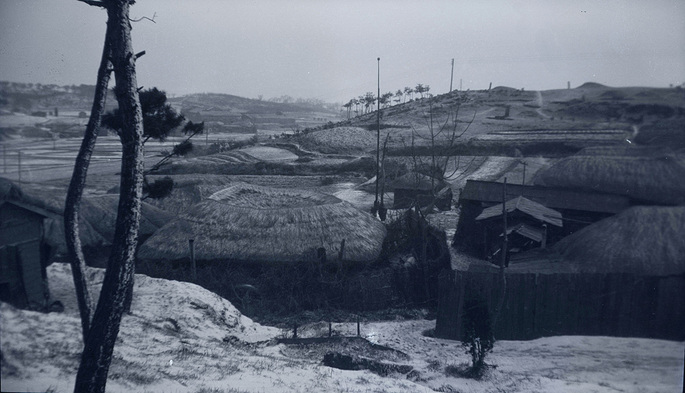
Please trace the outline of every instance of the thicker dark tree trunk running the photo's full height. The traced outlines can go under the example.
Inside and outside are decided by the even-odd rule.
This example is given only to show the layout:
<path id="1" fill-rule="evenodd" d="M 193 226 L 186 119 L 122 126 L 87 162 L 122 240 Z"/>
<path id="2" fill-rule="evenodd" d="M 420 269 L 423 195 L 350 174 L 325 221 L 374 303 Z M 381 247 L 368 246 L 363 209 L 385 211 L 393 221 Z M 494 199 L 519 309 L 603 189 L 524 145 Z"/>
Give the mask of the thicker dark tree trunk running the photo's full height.
<path id="1" fill-rule="evenodd" d="M 109 45 L 116 78 L 116 95 L 123 115 L 119 206 L 114 242 L 93 321 L 81 355 L 75 392 L 104 392 L 114 344 L 124 312 L 126 290 L 132 282 L 138 244 L 143 184 L 143 115 L 138 99 L 135 55 L 129 22 L 130 0 L 107 1 Z"/>

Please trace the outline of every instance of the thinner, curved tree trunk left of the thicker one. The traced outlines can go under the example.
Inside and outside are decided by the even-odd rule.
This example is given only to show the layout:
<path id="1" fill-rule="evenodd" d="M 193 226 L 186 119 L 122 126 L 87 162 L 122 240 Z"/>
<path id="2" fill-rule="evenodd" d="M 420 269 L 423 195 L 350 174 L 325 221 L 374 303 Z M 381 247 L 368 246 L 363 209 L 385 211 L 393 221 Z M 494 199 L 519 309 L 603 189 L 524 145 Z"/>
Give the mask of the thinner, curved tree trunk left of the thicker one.
<path id="1" fill-rule="evenodd" d="M 105 44 L 102 50 L 102 59 L 100 60 L 100 67 L 98 68 L 93 106 L 91 107 L 90 118 L 88 119 L 88 125 L 86 126 L 86 132 L 83 136 L 81 147 L 76 156 L 74 172 L 71 176 L 67 198 L 64 203 L 64 240 L 67 246 L 68 259 L 71 263 L 71 273 L 74 276 L 74 288 L 76 289 L 76 299 L 81 314 L 81 329 L 83 331 L 84 342 L 86 341 L 86 336 L 88 335 L 88 329 L 90 327 L 93 303 L 88 291 L 88 283 L 84 276 L 86 261 L 83 257 L 83 250 L 81 248 L 78 217 L 81 197 L 86 185 L 90 157 L 93 154 L 95 141 L 97 140 L 98 132 L 100 131 L 100 120 L 102 119 L 102 113 L 104 112 L 105 101 L 107 99 L 107 86 L 109 85 L 110 74 L 112 72 L 108 45 L 109 37 L 110 28 L 108 26 L 107 33 L 105 34 Z"/>

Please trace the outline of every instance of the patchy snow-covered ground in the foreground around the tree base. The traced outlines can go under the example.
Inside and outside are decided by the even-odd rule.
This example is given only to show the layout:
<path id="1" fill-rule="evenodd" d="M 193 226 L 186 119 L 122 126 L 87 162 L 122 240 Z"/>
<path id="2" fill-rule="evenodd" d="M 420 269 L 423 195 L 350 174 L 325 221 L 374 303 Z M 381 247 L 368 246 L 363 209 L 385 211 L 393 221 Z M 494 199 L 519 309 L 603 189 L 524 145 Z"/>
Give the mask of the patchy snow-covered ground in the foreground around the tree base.
<path id="1" fill-rule="evenodd" d="M 88 272 L 92 290 L 104 272 Z M 81 349 L 69 266 L 48 268 L 64 313 L 0 304 L 2 391 L 70 392 Z M 107 384 L 110 392 L 681 392 L 685 343 L 615 337 L 498 341 L 481 381 L 449 370 L 469 359 L 460 343 L 426 337 L 434 321 L 362 323 L 369 341 L 407 356 L 414 367 L 386 377 L 322 365 L 329 345 L 277 344 L 288 332 L 261 326 L 228 301 L 193 284 L 138 275 L 133 312 L 123 319 Z M 317 330 L 318 329 L 318 330 Z M 335 324 L 355 335 L 354 324 Z M 302 334 L 327 333 L 308 326 Z M 345 351 L 345 345 L 334 345 Z M 347 348 L 358 351 L 359 345 Z M 378 351 L 376 351 L 378 352 Z M 387 352 L 387 351 L 386 351 Z M 357 352 L 358 354 L 359 352 Z M 373 356 L 374 351 L 366 353 Z M 386 357 L 381 357 L 387 360 Z M 452 366 L 452 367 L 451 367 Z M 447 370 L 447 371 L 446 371 Z"/>

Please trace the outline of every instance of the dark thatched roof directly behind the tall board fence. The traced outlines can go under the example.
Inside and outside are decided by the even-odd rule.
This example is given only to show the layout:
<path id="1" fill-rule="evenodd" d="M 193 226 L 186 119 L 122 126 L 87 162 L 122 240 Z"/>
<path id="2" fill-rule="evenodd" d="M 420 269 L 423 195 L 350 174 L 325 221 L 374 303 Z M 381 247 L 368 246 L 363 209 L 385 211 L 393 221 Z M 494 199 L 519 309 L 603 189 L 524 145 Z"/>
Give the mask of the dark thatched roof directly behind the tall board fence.
<path id="1" fill-rule="evenodd" d="M 632 207 L 553 246 L 581 271 L 685 273 L 685 207 Z"/>

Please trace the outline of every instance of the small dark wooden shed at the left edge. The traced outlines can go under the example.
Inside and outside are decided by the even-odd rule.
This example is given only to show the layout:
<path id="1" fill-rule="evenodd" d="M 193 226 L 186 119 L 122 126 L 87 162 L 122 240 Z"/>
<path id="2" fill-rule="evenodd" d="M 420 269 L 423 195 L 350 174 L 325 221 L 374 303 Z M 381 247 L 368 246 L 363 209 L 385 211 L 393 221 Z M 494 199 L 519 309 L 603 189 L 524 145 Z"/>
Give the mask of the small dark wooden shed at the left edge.
<path id="1" fill-rule="evenodd" d="M 44 309 L 50 292 L 43 219 L 51 213 L 19 201 L 0 201 L 0 300 Z"/>

